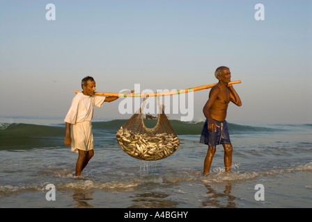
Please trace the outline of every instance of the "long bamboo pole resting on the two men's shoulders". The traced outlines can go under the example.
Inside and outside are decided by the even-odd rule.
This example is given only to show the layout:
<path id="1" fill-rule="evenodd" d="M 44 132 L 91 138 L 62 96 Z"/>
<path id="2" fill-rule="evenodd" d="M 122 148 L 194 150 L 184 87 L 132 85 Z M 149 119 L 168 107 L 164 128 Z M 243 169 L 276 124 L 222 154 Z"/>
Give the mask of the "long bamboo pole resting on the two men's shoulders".
<path id="1" fill-rule="evenodd" d="M 237 84 L 237 83 L 242 83 L 240 80 L 238 81 L 232 81 L 230 83 L 228 83 L 229 85 L 232 84 Z M 188 93 L 188 92 L 195 92 L 195 91 L 199 91 L 199 90 L 203 90 L 203 89 L 209 89 L 214 87 L 214 85 L 217 85 L 217 83 L 213 83 L 210 85 L 201 85 L 198 87 L 192 87 L 192 88 L 188 88 L 188 89 L 179 89 L 179 90 L 174 90 L 174 91 L 170 91 L 170 92 L 151 92 L 151 93 L 132 93 L 132 94 L 124 94 L 124 93 L 114 93 L 114 92 L 95 92 L 94 94 L 96 96 L 118 96 L 118 97 L 146 97 L 146 96 L 157 96 L 157 94 L 159 94 L 159 96 L 171 96 L 171 95 L 176 95 L 176 94 L 183 94 L 183 93 Z M 76 90 L 75 93 L 79 93 L 81 91 Z"/>

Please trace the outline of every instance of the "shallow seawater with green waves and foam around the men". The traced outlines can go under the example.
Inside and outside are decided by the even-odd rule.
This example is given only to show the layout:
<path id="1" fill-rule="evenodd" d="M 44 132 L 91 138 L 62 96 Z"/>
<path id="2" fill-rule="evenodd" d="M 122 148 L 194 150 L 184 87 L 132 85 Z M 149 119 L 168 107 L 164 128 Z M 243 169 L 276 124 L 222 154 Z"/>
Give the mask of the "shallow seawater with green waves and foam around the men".
<path id="1" fill-rule="evenodd" d="M 6 138 L 0 146 L 0 207 L 312 206 L 309 124 L 233 124 L 231 173 L 224 172 L 224 151 L 218 146 L 209 175 L 202 176 L 207 147 L 198 143 L 199 135 L 178 135 L 176 153 L 163 160 L 143 161 L 118 146 L 115 133 L 120 121 L 111 123 L 111 128 L 95 123 L 95 155 L 79 177 L 73 176 L 77 153 L 62 144 L 65 128 L 61 124 L 39 124 L 50 132 L 39 136 L 29 132 L 38 125 L 12 124 L 2 123 L 0 130 L 0 138 Z M 183 126 L 173 123 L 173 128 L 175 124 Z M 198 128 L 194 124 L 193 130 Z M 46 198 L 49 184 L 55 186 L 56 200 Z M 255 198 L 258 184 L 264 187 L 264 200 Z"/>

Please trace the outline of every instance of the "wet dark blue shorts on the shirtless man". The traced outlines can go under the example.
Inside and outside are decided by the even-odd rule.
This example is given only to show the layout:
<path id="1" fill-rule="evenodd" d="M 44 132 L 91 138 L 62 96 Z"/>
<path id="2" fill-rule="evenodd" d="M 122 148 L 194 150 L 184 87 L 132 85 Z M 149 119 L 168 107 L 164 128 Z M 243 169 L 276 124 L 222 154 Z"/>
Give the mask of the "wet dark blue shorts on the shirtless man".
<path id="1" fill-rule="evenodd" d="M 203 125 L 203 130 L 201 131 L 201 144 L 206 144 L 208 146 L 217 146 L 219 144 L 231 144 L 230 135 L 228 134 L 228 124 L 226 121 L 214 120 L 217 124 L 217 132 L 211 132 L 208 130 L 208 119 L 206 119 Z"/>

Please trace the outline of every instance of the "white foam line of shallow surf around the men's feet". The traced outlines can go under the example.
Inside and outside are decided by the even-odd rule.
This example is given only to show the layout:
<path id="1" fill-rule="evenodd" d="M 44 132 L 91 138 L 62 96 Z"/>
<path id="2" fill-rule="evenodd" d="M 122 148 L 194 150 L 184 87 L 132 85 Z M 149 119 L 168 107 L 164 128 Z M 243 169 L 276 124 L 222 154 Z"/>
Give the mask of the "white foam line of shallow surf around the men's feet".
<path id="1" fill-rule="evenodd" d="M 125 180 L 112 180 L 112 181 L 96 181 L 87 178 L 87 176 L 73 176 L 72 173 L 63 171 L 63 173 L 56 173 L 61 178 L 67 178 L 70 180 L 68 182 L 56 183 L 56 189 L 132 189 L 139 187 L 140 185 L 155 184 L 155 185 L 168 185 L 176 184 L 178 182 L 191 182 L 191 181 L 202 181 L 204 183 L 221 183 L 221 182 L 231 182 L 231 181 L 241 181 L 241 180 L 252 180 L 260 176 L 276 176 L 283 175 L 284 173 L 295 173 L 298 171 L 312 171 L 312 162 L 307 164 L 284 168 L 284 169 L 270 169 L 268 171 L 254 171 L 254 172 L 240 172 L 232 171 L 227 173 L 221 167 L 215 168 L 212 173 L 208 176 L 201 176 L 198 173 L 189 174 L 183 176 L 139 176 L 131 179 Z M 56 176 L 57 177 L 57 176 Z M 92 177 L 91 177 L 92 178 Z M 24 190 L 44 190 L 45 185 L 3 185 L 0 186 L 0 194 L 13 194 L 18 191 Z M 310 185 L 306 186 L 307 189 L 312 189 Z M 183 194 L 184 191 L 180 191 Z"/>

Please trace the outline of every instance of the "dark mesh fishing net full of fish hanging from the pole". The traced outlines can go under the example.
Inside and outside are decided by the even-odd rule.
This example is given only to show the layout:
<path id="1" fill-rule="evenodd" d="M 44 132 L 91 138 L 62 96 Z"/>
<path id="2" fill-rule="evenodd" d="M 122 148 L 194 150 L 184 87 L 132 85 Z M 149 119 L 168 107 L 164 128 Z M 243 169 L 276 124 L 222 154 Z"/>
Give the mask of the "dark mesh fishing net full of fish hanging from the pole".
<path id="1" fill-rule="evenodd" d="M 134 158 L 161 160 L 173 154 L 180 142 L 168 117 L 164 114 L 164 105 L 159 104 L 159 96 L 157 96 L 158 120 L 154 128 L 146 128 L 144 124 L 143 109 L 145 105 L 146 98 L 144 98 L 141 108 L 119 128 L 116 138 L 120 148 Z"/>

